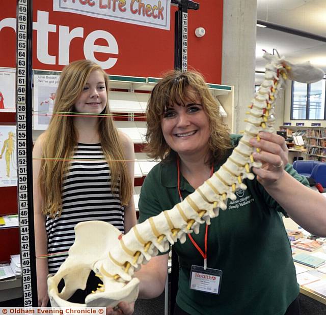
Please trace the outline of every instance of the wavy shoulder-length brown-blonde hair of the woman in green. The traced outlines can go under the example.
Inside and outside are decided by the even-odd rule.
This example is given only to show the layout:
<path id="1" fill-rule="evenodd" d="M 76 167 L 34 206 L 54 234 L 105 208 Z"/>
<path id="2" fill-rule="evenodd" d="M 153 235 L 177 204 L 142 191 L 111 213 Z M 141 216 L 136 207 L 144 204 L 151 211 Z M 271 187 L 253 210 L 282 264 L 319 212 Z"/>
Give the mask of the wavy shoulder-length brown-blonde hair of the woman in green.
<path id="1" fill-rule="evenodd" d="M 222 121 L 219 105 L 210 93 L 202 75 L 196 71 L 174 70 L 168 72 L 155 85 L 148 101 L 146 110 L 148 144 L 144 151 L 153 159 L 165 160 L 169 156 L 171 148 L 162 134 L 161 117 L 170 104 L 178 104 L 180 100 L 184 101 L 189 97 L 189 88 L 199 97 L 209 119 L 208 145 L 212 155 L 207 163 L 224 159 L 227 150 L 232 147 L 228 127 Z"/>

